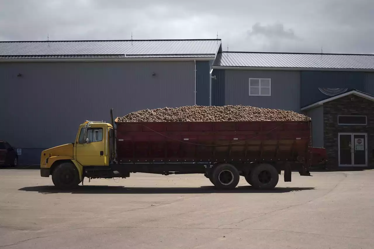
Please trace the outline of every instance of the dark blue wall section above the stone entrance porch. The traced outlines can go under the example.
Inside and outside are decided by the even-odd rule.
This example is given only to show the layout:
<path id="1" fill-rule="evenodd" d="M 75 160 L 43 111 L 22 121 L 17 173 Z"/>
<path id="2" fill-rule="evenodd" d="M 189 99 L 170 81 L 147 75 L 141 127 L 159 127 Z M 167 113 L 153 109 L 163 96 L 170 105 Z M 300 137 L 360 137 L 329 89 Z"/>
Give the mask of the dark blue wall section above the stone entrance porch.
<path id="1" fill-rule="evenodd" d="M 302 71 L 301 107 L 330 98 L 318 88 L 348 88 L 365 92 L 365 73 L 343 71 Z"/>

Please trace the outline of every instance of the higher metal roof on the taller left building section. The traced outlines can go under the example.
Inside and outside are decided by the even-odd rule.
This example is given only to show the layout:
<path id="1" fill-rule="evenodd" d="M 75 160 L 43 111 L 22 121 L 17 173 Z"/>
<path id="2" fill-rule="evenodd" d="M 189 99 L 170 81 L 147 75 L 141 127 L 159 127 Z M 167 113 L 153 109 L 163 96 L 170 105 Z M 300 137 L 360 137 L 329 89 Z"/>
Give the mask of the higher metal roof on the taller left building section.
<path id="1" fill-rule="evenodd" d="M 0 42 L 0 56 L 214 55 L 221 40 Z"/>

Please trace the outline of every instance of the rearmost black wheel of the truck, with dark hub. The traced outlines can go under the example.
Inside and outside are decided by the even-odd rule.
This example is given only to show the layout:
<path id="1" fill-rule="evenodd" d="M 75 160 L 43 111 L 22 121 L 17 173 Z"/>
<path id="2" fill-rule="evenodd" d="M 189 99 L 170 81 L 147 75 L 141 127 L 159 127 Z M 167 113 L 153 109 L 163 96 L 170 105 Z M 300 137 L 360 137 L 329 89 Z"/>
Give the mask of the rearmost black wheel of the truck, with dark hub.
<path id="1" fill-rule="evenodd" d="M 251 174 L 252 186 L 257 189 L 270 190 L 278 184 L 278 170 L 270 164 L 256 166 Z"/>

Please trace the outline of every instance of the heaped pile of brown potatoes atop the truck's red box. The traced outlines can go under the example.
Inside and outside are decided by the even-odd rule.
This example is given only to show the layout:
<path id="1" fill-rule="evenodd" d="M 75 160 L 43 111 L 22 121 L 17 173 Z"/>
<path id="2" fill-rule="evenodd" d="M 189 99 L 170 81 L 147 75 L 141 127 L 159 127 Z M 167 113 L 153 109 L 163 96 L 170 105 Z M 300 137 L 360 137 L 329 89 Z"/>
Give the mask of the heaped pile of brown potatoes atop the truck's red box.
<path id="1" fill-rule="evenodd" d="M 243 105 L 184 106 L 146 109 L 118 117 L 118 122 L 305 121 L 294 111 Z"/>

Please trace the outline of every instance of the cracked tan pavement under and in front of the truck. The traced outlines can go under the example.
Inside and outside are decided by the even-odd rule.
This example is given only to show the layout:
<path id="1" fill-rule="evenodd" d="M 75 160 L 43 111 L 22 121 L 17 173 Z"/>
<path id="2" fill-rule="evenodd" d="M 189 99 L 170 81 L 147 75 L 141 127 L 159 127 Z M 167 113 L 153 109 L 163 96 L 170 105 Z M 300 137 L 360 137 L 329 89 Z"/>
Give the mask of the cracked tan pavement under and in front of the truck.
<path id="1" fill-rule="evenodd" d="M 292 173 L 273 191 L 203 175 L 85 180 L 0 169 L 0 248 L 374 248 L 374 170 Z"/>

